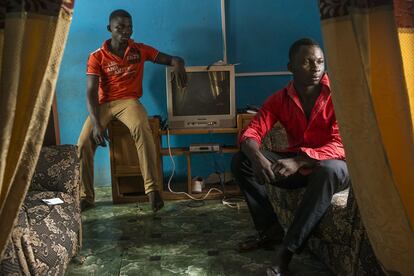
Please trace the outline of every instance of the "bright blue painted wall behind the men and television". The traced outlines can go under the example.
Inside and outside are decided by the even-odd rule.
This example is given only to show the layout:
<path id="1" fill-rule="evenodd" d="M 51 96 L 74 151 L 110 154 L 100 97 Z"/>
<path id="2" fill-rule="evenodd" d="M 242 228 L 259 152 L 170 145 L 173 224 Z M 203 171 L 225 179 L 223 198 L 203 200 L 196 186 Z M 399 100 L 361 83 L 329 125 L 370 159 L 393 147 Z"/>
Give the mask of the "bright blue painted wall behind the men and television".
<path id="1" fill-rule="evenodd" d="M 162 52 L 178 55 L 187 65 L 207 65 L 222 59 L 220 0 L 88 0 L 77 1 L 60 75 L 57 100 L 62 143 L 76 144 L 86 109 L 86 61 L 88 54 L 109 38 L 108 15 L 114 9 L 126 9 L 133 16 L 136 41 L 152 45 Z M 254 4 L 253 4 L 254 3 Z M 309 36 L 321 42 L 317 1 L 227 0 L 227 55 L 229 63 L 241 63 L 236 72 L 285 71 L 289 45 Z M 150 115 L 166 118 L 165 68 L 146 63 L 144 96 L 141 101 Z M 237 106 L 260 105 L 289 77 L 238 77 Z M 172 137 L 173 145 L 191 142 L 229 144 L 229 135 Z M 183 160 L 178 174 L 185 174 Z M 208 175 L 206 164 L 225 166 L 230 156 L 197 156 L 193 175 Z M 211 167 L 211 166 L 207 166 Z M 99 148 L 95 156 L 96 185 L 110 185 L 108 149 Z M 165 159 L 166 175 L 171 166 Z"/>

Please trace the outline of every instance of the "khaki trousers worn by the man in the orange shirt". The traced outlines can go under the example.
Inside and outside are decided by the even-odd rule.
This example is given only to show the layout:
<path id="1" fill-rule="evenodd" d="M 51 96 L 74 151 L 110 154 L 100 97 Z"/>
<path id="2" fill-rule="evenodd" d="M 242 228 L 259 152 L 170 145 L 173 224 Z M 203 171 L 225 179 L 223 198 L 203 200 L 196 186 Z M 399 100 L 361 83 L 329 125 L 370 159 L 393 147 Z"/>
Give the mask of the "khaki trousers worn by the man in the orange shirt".
<path id="1" fill-rule="evenodd" d="M 131 132 L 137 148 L 139 165 L 144 178 L 145 193 L 159 189 L 157 154 L 144 106 L 136 99 L 116 100 L 99 106 L 99 121 L 106 128 L 112 119 L 124 123 Z M 81 197 L 95 201 L 93 188 L 93 157 L 97 145 L 92 137 L 92 123 L 88 116 L 78 140 L 80 159 Z"/>

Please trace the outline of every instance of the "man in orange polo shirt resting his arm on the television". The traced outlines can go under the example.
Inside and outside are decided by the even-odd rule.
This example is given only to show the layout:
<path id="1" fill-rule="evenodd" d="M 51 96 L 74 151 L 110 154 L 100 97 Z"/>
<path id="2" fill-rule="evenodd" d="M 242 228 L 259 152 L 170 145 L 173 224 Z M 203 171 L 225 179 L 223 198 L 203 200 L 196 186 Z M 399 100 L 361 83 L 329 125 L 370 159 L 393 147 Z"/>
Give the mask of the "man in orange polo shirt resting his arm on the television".
<path id="1" fill-rule="evenodd" d="M 111 32 L 111 38 L 89 55 L 87 65 L 89 117 L 78 141 L 82 181 L 81 207 L 86 209 L 94 206 L 93 157 L 99 145 L 106 146 L 106 127 L 116 118 L 131 132 L 144 178 L 145 193 L 149 197 L 152 210 L 156 212 L 164 206 L 156 169 L 158 157 L 146 110 L 138 100 L 142 96 L 144 62 L 149 60 L 173 66 L 179 85 L 184 87 L 187 82 L 184 60 L 134 42 L 130 38 L 132 17 L 125 10 L 111 13 L 107 29 Z"/>

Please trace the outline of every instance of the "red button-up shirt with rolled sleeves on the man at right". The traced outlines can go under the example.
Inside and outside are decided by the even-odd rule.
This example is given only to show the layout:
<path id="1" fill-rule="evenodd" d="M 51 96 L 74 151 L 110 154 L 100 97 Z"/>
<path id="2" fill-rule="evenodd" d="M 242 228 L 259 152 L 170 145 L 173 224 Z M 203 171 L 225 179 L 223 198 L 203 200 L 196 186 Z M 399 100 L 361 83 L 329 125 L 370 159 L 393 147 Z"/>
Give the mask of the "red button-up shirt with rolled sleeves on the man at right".
<path id="1" fill-rule="evenodd" d="M 312 108 L 309 121 L 291 81 L 270 96 L 257 115 L 243 130 L 239 142 L 254 139 L 261 145 L 263 137 L 280 122 L 286 130 L 288 152 L 302 152 L 317 160 L 345 159 L 344 146 L 331 99 L 329 78 L 325 74 L 322 89 Z"/>

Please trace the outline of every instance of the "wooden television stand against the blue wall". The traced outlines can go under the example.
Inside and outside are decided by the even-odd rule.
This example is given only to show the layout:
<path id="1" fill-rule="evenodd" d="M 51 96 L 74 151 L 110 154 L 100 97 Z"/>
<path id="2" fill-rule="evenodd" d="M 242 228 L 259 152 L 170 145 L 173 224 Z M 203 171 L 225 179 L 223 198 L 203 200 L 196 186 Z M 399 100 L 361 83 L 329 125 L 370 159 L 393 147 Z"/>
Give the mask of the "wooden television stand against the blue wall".
<path id="1" fill-rule="evenodd" d="M 253 118 L 252 114 L 238 114 L 237 115 L 237 127 L 234 128 L 191 128 L 191 129 L 172 129 L 169 130 L 169 135 L 192 135 L 192 134 L 222 134 L 229 133 L 234 134 L 234 145 L 222 146 L 220 153 L 236 153 L 239 151 L 237 146 L 237 137 L 240 131 L 245 127 Z M 158 176 L 163 180 L 163 164 L 162 157 L 169 155 L 167 147 L 162 145 L 162 136 L 167 135 L 166 130 L 160 130 L 160 120 L 157 116 L 149 117 L 149 123 L 153 134 L 156 151 L 160 157 L 157 162 Z M 135 144 L 131 138 L 128 128 L 121 122 L 114 120 L 109 124 L 109 137 L 110 143 L 110 162 L 111 162 L 111 178 L 112 178 L 112 199 L 114 203 L 127 203 L 127 202 L 142 202 L 147 201 L 148 198 L 144 192 L 144 184 L 142 175 L 139 169 L 139 160 L 136 153 Z M 208 191 L 206 187 L 202 193 L 192 193 L 191 189 L 191 155 L 193 154 L 205 154 L 205 152 L 192 152 L 187 147 L 173 147 L 171 148 L 171 154 L 173 156 L 182 155 L 186 159 L 187 163 L 187 181 L 181 183 L 181 188 L 184 189 L 190 195 L 195 197 L 202 197 Z M 210 152 L 211 153 L 211 152 Z M 180 183 L 173 182 L 173 187 L 177 187 Z M 239 195 L 240 190 L 236 185 L 225 185 L 226 195 Z M 183 194 L 173 194 L 164 189 L 162 184 L 162 195 L 164 199 L 187 199 Z M 222 194 L 216 191 L 212 191 L 209 195 L 209 199 L 221 198 Z"/>

